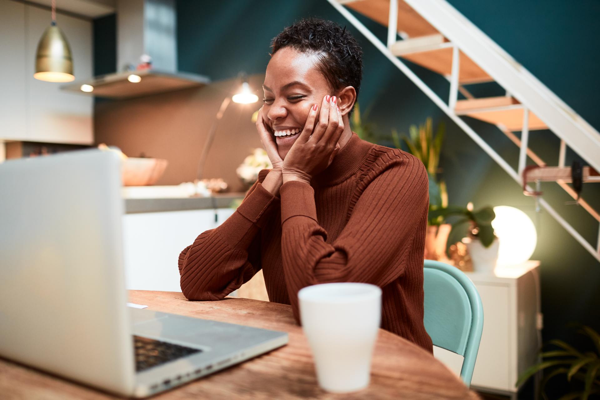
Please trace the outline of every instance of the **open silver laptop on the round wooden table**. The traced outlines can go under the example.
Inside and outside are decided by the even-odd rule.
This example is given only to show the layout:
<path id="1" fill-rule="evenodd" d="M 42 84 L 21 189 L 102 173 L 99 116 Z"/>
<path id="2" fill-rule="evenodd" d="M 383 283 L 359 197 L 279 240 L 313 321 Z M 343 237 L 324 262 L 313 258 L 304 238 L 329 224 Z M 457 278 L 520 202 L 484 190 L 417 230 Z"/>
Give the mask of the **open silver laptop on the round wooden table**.
<path id="1" fill-rule="evenodd" d="M 145 397 L 286 344 L 125 306 L 120 166 L 99 150 L 0 164 L 0 357 Z"/>

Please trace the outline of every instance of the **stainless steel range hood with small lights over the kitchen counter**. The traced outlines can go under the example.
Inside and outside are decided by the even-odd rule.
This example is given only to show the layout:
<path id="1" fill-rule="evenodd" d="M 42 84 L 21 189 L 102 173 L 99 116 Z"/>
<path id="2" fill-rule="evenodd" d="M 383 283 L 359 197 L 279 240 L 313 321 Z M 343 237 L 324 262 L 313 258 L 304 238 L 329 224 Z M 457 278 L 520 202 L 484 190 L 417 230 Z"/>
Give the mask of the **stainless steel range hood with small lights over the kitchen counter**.
<path id="1" fill-rule="evenodd" d="M 175 0 L 118 0 L 116 20 L 120 72 L 71 82 L 61 89 L 97 97 L 131 98 L 210 83 L 208 77 L 177 70 Z M 152 57 L 151 70 L 128 70 L 128 66 L 140 63 L 143 54 Z M 132 74 L 140 77 L 139 82 L 128 80 Z M 82 87 L 93 91 L 85 92 Z"/>

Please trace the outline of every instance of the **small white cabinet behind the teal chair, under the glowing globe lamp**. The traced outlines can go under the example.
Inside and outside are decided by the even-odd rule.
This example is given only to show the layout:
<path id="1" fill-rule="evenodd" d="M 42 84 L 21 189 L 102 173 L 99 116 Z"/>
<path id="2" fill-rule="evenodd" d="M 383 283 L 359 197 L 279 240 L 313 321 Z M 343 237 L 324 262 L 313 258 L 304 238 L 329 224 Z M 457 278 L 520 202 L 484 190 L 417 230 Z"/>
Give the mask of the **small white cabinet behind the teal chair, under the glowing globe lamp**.
<path id="1" fill-rule="evenodd" d="M 541 345 L 538 267 L 539 261 L 527 261 L 497 269 L 496 275 L 466 273 L 484 306 L 484 330 L 471 381 L 474 389 L 516 398 L 518 376 L 537 361 Z M 462 357 L 436 347 L 434 355 L 460 372 Z"/>

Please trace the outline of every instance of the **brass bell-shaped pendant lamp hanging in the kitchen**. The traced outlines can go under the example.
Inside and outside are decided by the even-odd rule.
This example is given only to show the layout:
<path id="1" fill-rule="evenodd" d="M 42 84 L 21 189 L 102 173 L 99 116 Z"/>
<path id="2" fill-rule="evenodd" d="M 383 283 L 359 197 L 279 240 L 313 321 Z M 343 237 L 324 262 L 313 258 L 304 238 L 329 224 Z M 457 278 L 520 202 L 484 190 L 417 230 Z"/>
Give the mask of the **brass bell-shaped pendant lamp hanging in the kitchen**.
<path id="1" fill-rule="evenodd" d="M 44 31 L 35 52 L 34 78 L 46 82 L 71 82 L 75 79 L 71 47 L 56 26 L 56 0 L 52 0 L 52 23 Z"/>

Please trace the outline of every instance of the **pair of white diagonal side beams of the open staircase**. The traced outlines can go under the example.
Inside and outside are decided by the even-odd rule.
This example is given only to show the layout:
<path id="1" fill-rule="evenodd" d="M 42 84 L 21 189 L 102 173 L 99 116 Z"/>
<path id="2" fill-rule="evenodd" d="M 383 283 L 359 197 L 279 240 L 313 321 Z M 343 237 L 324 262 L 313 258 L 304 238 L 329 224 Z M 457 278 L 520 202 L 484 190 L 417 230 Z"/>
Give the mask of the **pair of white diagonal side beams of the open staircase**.
<path id="1" fill-rule="evenodd" d="M 406 64 L 398 59 L 389 49 L 369 31 L 338 0 L 327 0 L 340 14 L 358 29 L 377 49 L 389 59 L 402 73 L 421 89 L 443 112 L 448 115 L 471 139 L 479 145 L 508 175 L 522 185 L 522 178 L 517 171 L 490 147 L 463 119 L 455 113 L 452 97 L 449 107 L 427 84 L 425 84 Z M 341 0 L 344 4 L 352 0 Z M 397 1 L 397 0 L 392 0 Z M 600 133 L 583 118 L 568 107 L 560 98 L 546 88 L 539 80 L 518 64 L 502 48 L 481 32 L 475 25 L 458 13 L 445 0 L 404 0 L 413 7 L 431 25 L 448 38 L 457 49 L 463 51 L 483 68 L 491 77 L 509 91 L 521 104 L 534 112 L 548 128 L 569 145 L 578 155 L 596 170 L 600 170 Z M 464 30 L 464 31 L 463 31 Z M 389 41 L 389 40 L 388 40 Z M 465 49 L 465 47 L 468 48 Z M 484 55 L 478 52 L 484 53 Z M 458 55 L 458 51 L 455 51 Z M 456 57 L 455 57 L 456 59 Z M 481 64 L 480 64 L 481 63 Z M 496 64 L 494 64 L 496 63 Z M 457 63 L 458 64 L 458 63 Z M 488 70 L 490 68 L 490 70 Z M 456 78 L 455 78 L 456 79 Z M 451 82 L 452 86 L 452 82 Z M 454 89 L 456 92 L 457 89 Z M 452 88 L 451 88 L 452 92 Z M 455 99 L 455 96 L 454 96 Z M 529 185 L 526 190 L 533 191 Z M 538 199 L 539 204 L 565 228 L 596 260 L 600 261 L 600 231 L 598 248 L 594 248 L 569 224 L 547 201 Z"/>

